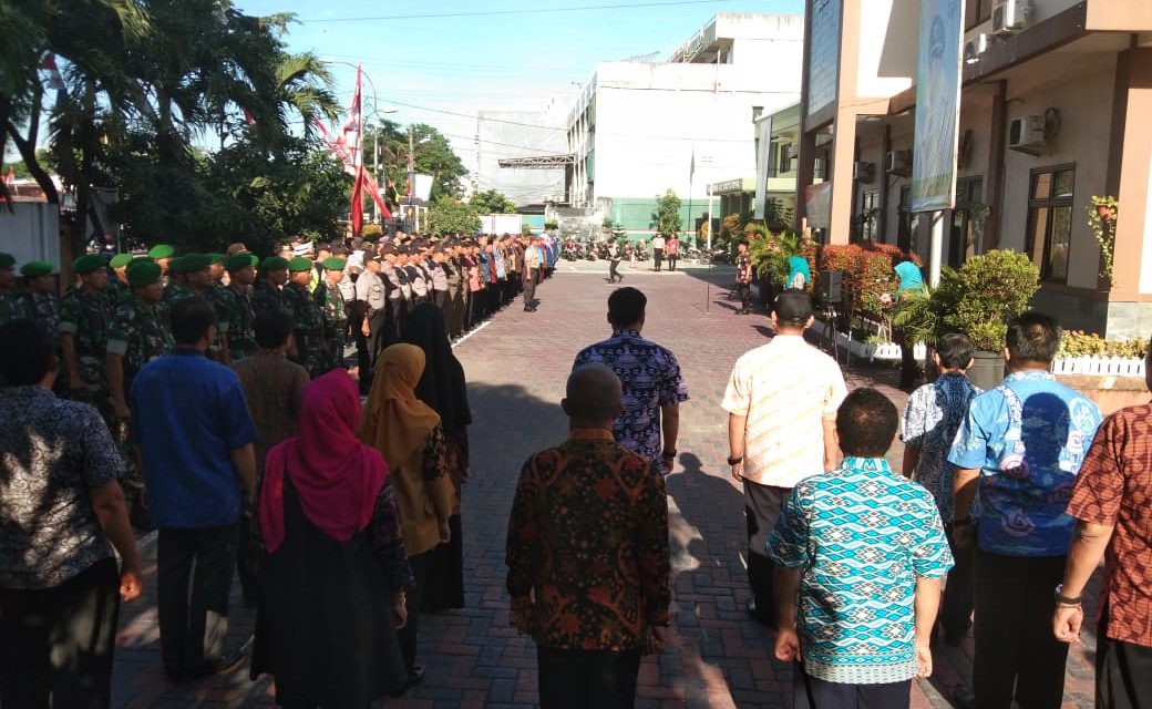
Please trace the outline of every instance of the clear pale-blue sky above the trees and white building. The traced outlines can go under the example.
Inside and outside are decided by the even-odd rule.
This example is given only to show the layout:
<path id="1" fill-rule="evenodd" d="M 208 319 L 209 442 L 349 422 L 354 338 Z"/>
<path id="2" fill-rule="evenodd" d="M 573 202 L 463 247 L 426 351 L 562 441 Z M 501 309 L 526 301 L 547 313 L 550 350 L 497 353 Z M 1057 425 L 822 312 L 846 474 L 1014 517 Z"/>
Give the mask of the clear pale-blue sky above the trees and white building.
<path id="1" fill-rule="evenodd" d="M 437 127 L 469 169 L 477 111 L 540 108 L 578 91 L 600 61 L 665 60 L 717 13 L 804 7 L 804 0 L 234 1 L 250 15 L 294 13 L 289 51 L 332 60 L 342 103 L 361 63 L 366 118 L 374 86 L 376 108 L 395 110 L 384 118 Z"/>

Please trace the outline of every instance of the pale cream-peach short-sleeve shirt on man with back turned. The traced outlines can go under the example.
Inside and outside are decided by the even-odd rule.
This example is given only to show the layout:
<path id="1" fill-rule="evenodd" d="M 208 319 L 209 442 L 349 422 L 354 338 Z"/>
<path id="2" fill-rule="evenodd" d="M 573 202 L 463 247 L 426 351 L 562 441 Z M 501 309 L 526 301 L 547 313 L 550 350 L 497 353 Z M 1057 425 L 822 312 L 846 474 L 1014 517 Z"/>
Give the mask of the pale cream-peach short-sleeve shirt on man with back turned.
<path id="1" fill-rule="evenodd" d="M 801 335 L 776 335 L 745 353 L 720 406 L 744 416 L 744 477 L 791 488 L 824 469 L 824 421 L 848 395 L 836 361 Z"/>

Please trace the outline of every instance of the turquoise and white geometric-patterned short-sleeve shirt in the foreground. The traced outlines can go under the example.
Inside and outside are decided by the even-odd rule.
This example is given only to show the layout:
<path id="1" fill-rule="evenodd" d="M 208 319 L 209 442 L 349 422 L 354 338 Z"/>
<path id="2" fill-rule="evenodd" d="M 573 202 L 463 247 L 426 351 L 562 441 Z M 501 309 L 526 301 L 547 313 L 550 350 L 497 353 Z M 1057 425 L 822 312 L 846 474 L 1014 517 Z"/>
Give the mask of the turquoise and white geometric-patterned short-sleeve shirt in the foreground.
<path id="1" fill-rule="evenodd" d="M 882 458 L 848 458 L 793 489 L 768 555 L 799 571 L 804 671 L 842 684 L 916 677 L 916 578 L 953 566 L 932 496 Z"/>

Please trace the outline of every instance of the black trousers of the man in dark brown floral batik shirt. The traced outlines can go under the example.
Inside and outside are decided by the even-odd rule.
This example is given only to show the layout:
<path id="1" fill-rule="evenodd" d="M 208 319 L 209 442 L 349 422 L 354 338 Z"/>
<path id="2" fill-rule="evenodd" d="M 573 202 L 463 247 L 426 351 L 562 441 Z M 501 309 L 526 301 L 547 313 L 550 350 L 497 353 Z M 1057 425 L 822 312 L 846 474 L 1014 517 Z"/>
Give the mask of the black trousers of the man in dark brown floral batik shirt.
<path id="1" fill-rule="evenodd" d="M 641 651 L 536 649 L 540 709 L 631 709 Z"/>

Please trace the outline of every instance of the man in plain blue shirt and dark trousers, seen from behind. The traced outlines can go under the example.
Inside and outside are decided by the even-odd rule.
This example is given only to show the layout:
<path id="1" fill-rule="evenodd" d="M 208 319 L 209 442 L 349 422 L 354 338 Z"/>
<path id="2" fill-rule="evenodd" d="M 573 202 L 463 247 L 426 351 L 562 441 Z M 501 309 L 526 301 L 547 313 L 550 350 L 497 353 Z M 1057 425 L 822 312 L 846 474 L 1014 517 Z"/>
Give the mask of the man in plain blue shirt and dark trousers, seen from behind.
<path id="1" fill-rule="evenodd" d="M 175 680 L 243 662 L 223 655 L 223 639 L 241 499 L 251 499 L 256 484 L 256 431 L 236 375 L 205 356 L 217 337 L 212 306 L 202 297 L 175 303 L 172 334 L 175 349 L 141 369 L 130 401 L 159 529 L 160 651 Z"/>

